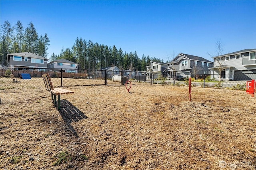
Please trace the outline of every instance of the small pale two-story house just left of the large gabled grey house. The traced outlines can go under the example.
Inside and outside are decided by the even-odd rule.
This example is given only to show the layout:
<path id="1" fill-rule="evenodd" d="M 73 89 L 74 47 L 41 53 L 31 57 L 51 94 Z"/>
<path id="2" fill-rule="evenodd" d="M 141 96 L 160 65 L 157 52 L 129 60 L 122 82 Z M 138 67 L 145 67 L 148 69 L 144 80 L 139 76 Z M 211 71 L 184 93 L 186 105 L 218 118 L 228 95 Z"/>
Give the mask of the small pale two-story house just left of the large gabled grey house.
<path id="1" fill-rule="evenodd" d="M 151 78 L 151 73 L 153 73 L 153 79 L 155 79 L 164 75 L 164 70 L 167 68 L 167 64 L 150 61 L 150 65 L 146 66 L 146 68 L 147 71 L 145 71 L 145 74 L 147 75 L 147 78 Z"/>

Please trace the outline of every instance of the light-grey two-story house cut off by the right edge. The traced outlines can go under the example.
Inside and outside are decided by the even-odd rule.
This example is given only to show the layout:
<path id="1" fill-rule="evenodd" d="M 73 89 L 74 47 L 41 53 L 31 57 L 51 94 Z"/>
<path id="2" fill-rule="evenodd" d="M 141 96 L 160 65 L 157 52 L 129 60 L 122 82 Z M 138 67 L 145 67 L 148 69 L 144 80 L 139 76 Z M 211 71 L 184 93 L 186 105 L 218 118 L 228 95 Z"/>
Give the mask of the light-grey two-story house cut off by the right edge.
<path id="1" fill-rule="evenodd" d="M 256 73 L 256 49 L 243 49 L 214 57 L 211 77 L 223 80 L 251 80 Z"/>

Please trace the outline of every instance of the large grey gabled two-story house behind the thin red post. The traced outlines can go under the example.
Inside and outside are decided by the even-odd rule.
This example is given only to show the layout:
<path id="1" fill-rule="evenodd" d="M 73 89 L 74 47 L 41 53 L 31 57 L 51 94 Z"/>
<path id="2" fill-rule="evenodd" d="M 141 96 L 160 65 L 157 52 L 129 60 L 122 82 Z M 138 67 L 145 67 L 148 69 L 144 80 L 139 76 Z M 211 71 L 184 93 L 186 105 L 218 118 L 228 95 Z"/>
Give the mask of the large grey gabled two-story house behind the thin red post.
<path id="1" fill-rule="evenodd" d="M 203 57 L 180 53 L 170 63 L 167 63 L 168 75 L 172 78 L 175 76 L 197 77 L 198 75 L 210 74 L 210 67 L 213 62 Z"/>

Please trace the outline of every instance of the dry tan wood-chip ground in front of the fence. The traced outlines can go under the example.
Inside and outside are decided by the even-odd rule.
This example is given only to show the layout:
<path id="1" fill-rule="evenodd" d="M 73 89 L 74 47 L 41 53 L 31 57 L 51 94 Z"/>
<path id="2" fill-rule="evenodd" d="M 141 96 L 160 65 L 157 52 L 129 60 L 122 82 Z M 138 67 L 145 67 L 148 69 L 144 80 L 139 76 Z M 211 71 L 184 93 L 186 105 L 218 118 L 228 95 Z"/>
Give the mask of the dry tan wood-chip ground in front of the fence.
<path id="1" fill-rule="evenodd" d="M 1 170 L 256 168 L 256 98 L 170 85 L 3 89 Z"/>

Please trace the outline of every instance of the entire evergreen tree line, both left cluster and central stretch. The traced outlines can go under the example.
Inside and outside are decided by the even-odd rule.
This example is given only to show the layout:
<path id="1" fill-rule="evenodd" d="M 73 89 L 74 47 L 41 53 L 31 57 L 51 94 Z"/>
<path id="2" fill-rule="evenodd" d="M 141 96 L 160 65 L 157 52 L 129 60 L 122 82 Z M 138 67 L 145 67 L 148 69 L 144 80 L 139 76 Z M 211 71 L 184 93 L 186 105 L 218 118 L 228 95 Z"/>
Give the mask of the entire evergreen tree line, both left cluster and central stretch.
<path id="1" fill-rule="evenodd" d="M 11 26 L 7 20 L 1 25 L 0 63 L 7 64 L 8 53 L 31 52 L 47 58 L 48 45 L 50 45 L 50 39 L 47 34 L 38 36 L 32 22 L 24 29 L 20 21 L 15 26 Z M 150 61 L 164 62 L 144 54 L 140 59 L 136 51 L 127 53 L 123 52 L 121 48 L 117 49 L 115 45 L 111 47 L 78 37 L 71 48 L 64 49 L 62 47 L 60 54 L 52 53 L 49 59 L 50 61 L 57 59 L 73 61 L 78 63 L 78 69 L 101 69 L 117 66 L 121 70 L 130 69 L 132 71 L 146 71 L 146 66 L 150 65 Z"/>

